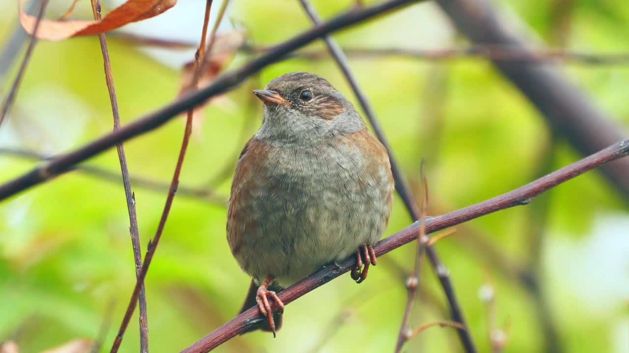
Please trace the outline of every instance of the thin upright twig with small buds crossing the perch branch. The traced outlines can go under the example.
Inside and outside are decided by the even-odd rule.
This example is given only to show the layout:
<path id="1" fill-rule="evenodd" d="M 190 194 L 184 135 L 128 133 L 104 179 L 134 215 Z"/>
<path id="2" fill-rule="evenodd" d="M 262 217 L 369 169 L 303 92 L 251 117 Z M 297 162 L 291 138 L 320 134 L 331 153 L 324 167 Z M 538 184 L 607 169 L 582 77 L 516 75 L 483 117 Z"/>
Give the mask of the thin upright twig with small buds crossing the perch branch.
<path id="1" fill-rule="evenodd" d="M 428 243 L 428 236 L 426 236 L 426 209 L 428 208 L 428 182 L 426 181 L 425 160 L 421 161 L 420 168 L 421 175 L 421 217 L 420 217 L 420 229 L 417 232 L 417 251 L 415 254 L 415 266 L 413 266 L 413 274 L 406 279 L 406 289 L 408 290 L 408 299 L 406 300 L 406 308 L 404 309 L 404 316 L 402 318 L 402 325 L 399 328 L 398 342 L 396 342 L 395 352 L 398 353 L 402 350 L 404 342 L 409 339 L 409 322 L 411 320 L 411 313 L 413 312 L 413 303 L 415 303 L 415 293 L 418 286 L 420 286 L 420 274 L 421 274 L 421 258 L 425 252 L 426 244 Z M 462 327 L 465 329 L 465 327 Z"/>

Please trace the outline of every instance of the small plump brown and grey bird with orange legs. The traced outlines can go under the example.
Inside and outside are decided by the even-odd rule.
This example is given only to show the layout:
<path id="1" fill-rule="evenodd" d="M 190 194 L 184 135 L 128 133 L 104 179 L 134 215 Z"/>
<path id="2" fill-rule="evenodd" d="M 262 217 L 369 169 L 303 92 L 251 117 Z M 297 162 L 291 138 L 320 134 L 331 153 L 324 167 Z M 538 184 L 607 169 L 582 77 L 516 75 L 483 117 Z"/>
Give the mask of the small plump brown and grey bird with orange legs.
<path id="1" fill-rule="evenodd" d="M 253 94 L 264 120 L 240 154 L 231 184 L 227 241 L 253 281 L 241 312 L 257 303 L 275 335 L 284 304 L 271 289 L 355 253 L 352 278 L 376 264 L 372 245 L 391 214 L 386 149 L 328 81 L 291 72 Z M 277 323 L 276 323 L 277 322 Z"/>

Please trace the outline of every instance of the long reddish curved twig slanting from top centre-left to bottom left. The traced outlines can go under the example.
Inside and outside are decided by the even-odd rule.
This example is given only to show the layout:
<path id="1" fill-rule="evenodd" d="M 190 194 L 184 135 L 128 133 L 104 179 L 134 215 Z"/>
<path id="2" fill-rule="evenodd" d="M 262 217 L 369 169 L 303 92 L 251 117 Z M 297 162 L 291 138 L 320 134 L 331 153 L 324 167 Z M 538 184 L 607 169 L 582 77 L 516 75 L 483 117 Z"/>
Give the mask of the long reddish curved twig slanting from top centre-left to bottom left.
<path id="1" fill-rule="evenodd" d="M 204 15 L 204 21 L 203 21 L 203 30 L 201 31 L 201 41 L 199 43 L 199 49 L 197 50 L 196 55 L 195 55 L 194 64 L 196 68 L 198 68 L 199 62 L 203 60 L 203 55 L 205 53 L 204 52 L 205 41 L 206 41 L 206 36 L 207 36 L 207 31 L 208 31 L 209 13 L 212 7 L 212 3 L 213 3 L 213 0 L 207 0 L 206 2 L 205 15 Z M 220 17 L 216 19 L 217 23 L 220 21 L 221 21 Z M 214 37 L 210 38 L 209 46 L 213 45 L 213 39 Z M 198 84 L 198 82 L 199 82 L 199 72 L 195 72 L 195 74 L 192 76 L 191 87 L 196 88 L 196 85 Z M 159 245 L 159 240 L 162 237 L 162 232 L 164 231 L 164 226 L 166 224 L 166 220 L 168 219 L 168 215 L 170 213 L 170 207 L 172 206 L 172 201 L 174 200 L 175 193 L 177 192 L 177 186 L 179 185 L 179 175 L 181 173 L 181 168 L 184 164 L 184 158 L 186 156 L 188 143 L 190 141 L 190 135 L 192 133 L 192 112 L 193 112 L 193 107 L 189 109 L 189 111 L 187 112 L 184 138 L 181 143 L 181 149 L 179 151 L 179 158 L 177 159 L 175 172 L 174 172 L 174 175 L 172 176 L 172 182 L 170 183 L 170 190 L 168 193 L 168 197 L 166 198 L 164 211 L 162 212 L 162 217 L 160 218 L 159 225 L 157 226 L 157 232 L 155 232 L 155 237 L 153 237 L 153 240 L 148 243 L 147 254 L 145 256 L 144 266 L 142 266 L 141 276 L 138 277 L 135 288 L 133 288 L 131 301 L 128 307 L 126 308 L 125 317 L 123 318 L 123 321 L 120 324 L 118 335 L 116 336 L 116 340 L 114 340 L 114 343 L 111 347 L 111 353 L 118 352 L 118 348 L 120 347 L 120 344 L 122 342 L 123 335 L 125 335 L 126 327 L 128 326 L 129 321 L 131 320 L 131 315 L 133 315 L 133 312 L 135 311 L 135 305 L 136 305 L 136 300 L 137 300 L 136 298 L 140 295 L 140 290 L 143 286 L 144 278 L 146 277 L 146 273 L 148 271 L 148 266 L 150 266 L 151 260 L 153 259 L 153 256 L 155 255 L 155 250 L 157 250 L 157 246 Z"/>

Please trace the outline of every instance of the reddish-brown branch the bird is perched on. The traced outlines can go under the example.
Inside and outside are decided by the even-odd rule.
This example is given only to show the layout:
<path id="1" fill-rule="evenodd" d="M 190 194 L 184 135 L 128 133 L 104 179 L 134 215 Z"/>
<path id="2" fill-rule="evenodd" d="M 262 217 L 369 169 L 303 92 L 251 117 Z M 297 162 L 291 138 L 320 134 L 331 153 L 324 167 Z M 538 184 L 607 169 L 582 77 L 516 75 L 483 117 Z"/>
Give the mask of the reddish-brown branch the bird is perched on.
<path id="1" fill-rule="evenodd" d="M 426 234 L 437 232 L 498 210 L 528 204 L 532 201 L 533 197 L 545 192 L 549 188 L 559 185 L 566 180 L 570 180 L 577 175 L 581 175 L 582 173 L 596 168 L 597 166 L 603 165 L 608 161 L 616 160 L 627 155 L 629 155 L 629 139 L 613 144 L 598 153 L 594 153 L 594 155 L 587 156 L 582 160 L 565 166 L 560 170 L 554 171 L 553 173 L 543 176 L 542 178 L 539 178 L 538 180 L 528 183 L 511 192 L 490 198 L 489 200 L 485 200 L 476 205 L 448 212 L 447 214 L 438 215 L 436 217 L 428 217 L 428 219 L 426 219 Z M 382 256 L 393 249 L 397 249 L 398 247 L 417 239 L 418 231 L 419 224 L 418 222 L 415 222 L 408 225 L 401 231 L 382 239 L 374 247 L 376 255 Z M 325 283 L 330 282 L 341 274 L 350 271 L 353 267 L 355 267 L 355 264 L 355 257 L 350 256 L 345 259 L 345 261 L 338 264 L 338 266 L 325 266 L 307 278 L 304 278 L 304 280 L 301 280 L 289 288 L 286 288 L 286 290 L 281 291 L 279 293 L 279 298 L 282 300 L 284 305 L 288 305 L 300 296 L 303 296 L 306 293 L 315 290 L 315 288 L 325 285 Z M 273 310 L 279 309 L 277 307 L 277 303 L 275 302 L 273 303 L 272 308 Z M 218 347 L 232 337 L 253 329 L 264 320 L 265 318 L 260 315 L 259 308 L 252 307 L 246 312 L 243 312 L 237 317 L 231 319 L 229 322 L 226 322 L 223 326 L 213 332 L 210 332 L 197 342 L 194 342 L 194 344 L 182 350 L 182 352 L 209 352 L 209 350 Z"/>

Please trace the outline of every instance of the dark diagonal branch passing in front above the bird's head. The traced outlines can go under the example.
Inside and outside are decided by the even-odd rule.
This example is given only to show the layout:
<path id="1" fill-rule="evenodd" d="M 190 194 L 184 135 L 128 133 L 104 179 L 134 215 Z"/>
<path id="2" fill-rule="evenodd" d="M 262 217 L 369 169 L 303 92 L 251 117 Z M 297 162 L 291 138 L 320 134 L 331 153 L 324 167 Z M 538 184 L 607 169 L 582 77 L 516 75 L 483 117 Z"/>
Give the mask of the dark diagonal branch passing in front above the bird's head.
<path id="1" fill-rule="evenodd" d="M 27 188 L 46 182 L 60 173 L 69 170 L 71 166 L 87 160 L 87 158 L 96 156 L 117 143 L 159 128 L 159 126 L 162 126 L 162 124 L 169 121 L 177 114 L 202 104 L 205 100 L 214 95 L 221 94 L 226 92 L 226 90 L 236 87 L 253 73 L 277 62 L 277 60 L 292 52 L 292 50 L 300 48 L 320 36 L 416 2 L 418 2 L 418 0 L 389 0 L 369 8 L 351 9 L 346 13 L 340 14 L 330 21 L 320 26 L 315 26 L 311 28 L 311 30 L 305 31 L 293 37 L 291 40 L 276 46 L 274 50 L 251 60 L 242 67 L 224 73 L 214 80 L 211 85 L 184 94 L 180 99 L 175 100 L 175 102 L 136 119 L 130 124 L 123 126 L 118 131 L 106 134 L 81 148 L 60 155 L 43 165 L 33 168 L 33 170 L 28 173 L 0 185 L 0 200 L 4 200 Z"/>

